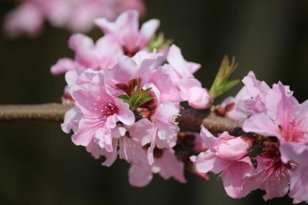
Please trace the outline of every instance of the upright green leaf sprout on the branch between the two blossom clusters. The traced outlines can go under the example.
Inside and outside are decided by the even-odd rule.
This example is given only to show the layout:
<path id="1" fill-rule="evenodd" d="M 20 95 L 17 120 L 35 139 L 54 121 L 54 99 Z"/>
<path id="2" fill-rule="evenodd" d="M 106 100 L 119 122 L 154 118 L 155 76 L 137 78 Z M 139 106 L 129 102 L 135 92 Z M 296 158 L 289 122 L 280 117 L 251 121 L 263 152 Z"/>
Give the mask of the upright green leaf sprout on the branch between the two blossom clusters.
<path id="1" fill-rule="evenodd" d="M 239 83 L 240 80 L 238 79 L 231 81 L 228 80 L 237 67 L 238 63 L 235 63 L 235 57 L 232 58 L 232 62 L 230 64 L 228 56 L 224 55 L 216 78 L 209 91 L 213 98 L 225 93 Z"/>

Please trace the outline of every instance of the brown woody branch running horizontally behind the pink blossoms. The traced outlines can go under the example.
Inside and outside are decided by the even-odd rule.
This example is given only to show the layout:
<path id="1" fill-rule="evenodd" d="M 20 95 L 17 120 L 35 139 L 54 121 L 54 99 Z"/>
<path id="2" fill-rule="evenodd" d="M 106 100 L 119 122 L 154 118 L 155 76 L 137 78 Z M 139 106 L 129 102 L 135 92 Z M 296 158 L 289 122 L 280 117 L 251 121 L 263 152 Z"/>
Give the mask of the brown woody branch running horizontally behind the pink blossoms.
<path id="1" fill-rule="evenodd" d="M 62 104 L 41 105 L 0 105 L 0 121 L 47 121 L 62 122 L 70 106 Z M 181 110 L 178 117 L 179 126 L 189 131 L 200 131 L 203 125 L 212 132 L 227 131 L 238 135 L 242 122 L 232 119 L 204 114 L 195 109 Z"/>

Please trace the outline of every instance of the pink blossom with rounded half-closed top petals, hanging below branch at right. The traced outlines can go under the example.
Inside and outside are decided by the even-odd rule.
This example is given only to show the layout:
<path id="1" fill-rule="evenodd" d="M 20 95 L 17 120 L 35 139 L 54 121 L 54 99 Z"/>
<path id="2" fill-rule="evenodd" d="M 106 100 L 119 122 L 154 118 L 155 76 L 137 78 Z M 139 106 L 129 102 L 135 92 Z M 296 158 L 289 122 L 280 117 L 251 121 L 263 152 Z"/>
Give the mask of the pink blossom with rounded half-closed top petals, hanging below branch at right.
<path id="1" fill-rule="evenodd" d="M 258 188 L 249 181 L 249 177 L 256 174 L 248 156 L 252 147 L 249 141 L 230 136 L 227 132 L 215 138 L 205 128 L 202 128 L 201 134 L 211 146 L 198 157 L 190 157 L 199 172 L 221 173 L 225 191 L 233 198 L 242 198 Z"/>

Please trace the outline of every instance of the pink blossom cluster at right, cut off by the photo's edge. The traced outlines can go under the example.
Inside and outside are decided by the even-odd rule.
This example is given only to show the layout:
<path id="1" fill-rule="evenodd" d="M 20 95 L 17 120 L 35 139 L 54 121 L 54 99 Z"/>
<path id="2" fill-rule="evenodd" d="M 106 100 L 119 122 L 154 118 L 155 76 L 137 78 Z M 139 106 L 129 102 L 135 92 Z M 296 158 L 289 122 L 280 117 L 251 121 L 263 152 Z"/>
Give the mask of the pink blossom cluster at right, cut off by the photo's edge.
<path id="1" fill-rule="evenodd" d="M 288 193 L 294 203 L 307 202 L 308 101 L 298 103 L 290 87 L 279 82 L 271 88 L 253 72 L 242 82 L 237 96 L 225 99 L 217 113 L 243 120 L 245 133 L 216 138 L 202 128 L 209 149 L 191 160 L 199 172 L 220 173 L 230 197 L 261 189 L 264 200 Z M 252 157 L 255 149 L 260 154 Z"/>

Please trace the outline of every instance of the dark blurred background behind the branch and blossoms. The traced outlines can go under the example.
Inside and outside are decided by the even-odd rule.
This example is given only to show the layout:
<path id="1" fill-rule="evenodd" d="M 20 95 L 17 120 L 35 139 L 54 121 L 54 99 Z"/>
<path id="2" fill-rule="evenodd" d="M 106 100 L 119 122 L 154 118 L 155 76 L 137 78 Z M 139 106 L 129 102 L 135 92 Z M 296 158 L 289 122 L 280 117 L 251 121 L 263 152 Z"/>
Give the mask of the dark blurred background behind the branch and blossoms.
<path id="1" fill-rule="evenodd" d="M 12 3 L 0 1 L 1 22 Z M 160 31 L 173 38 L 190 61 L 202 64 L 197 78 L 210 87 L 224 54 L 235 55 L 242 78 L 254 70 L 269 85 L 281 80 L 299 101 L 308 96 L 307 1 L 147 1 L 144 20 L 159 18 Z M 94 29 L 94 39 L 102 33 Z M 36 39 L 0 38 L 0 104 L 60 101 L 64 76 L 51 65 L 73 56 L 65 30 L 46 26 Z M 235 94 L 240 86 L 229 94 Z M 224 96 L 225 97 L 225 96 Z M 223 97 L 219 98 L 217 103 Z M 132 188 L 128 165 L 100 165 L 72 144 L 59 124 L 0 123 L 0 204 L 291 204 L 287 197 L 263 202 L 262 191 L 229 198 L 221 180 L 209 182 L 186 173 L 187 184 L 155 176 L 145 188 Z"/>

